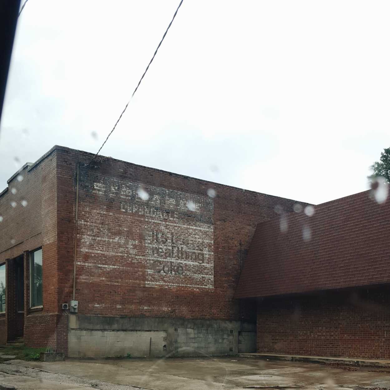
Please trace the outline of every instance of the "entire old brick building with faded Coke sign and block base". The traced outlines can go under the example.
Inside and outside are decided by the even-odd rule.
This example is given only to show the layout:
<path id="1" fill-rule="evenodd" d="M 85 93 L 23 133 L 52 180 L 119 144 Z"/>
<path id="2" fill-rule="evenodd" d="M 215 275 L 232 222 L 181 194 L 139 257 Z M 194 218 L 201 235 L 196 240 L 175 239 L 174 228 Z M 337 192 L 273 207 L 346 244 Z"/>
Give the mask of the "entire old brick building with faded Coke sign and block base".
<path id="1" fill-rule="evenodd" d="M 233 299 L 241 268 L 256 225 L 296 202 L 91 158 L 55 146 L 0 193 L 0 342 L 69 356 L 254 351 L 257 303 Z"/>

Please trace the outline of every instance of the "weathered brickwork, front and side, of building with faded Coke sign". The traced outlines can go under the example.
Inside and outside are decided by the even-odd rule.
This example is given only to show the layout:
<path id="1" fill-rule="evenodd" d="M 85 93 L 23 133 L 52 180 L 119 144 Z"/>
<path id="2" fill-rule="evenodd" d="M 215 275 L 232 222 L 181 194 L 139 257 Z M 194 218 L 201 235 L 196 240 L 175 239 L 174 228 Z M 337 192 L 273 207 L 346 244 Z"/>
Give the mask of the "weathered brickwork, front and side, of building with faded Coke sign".
<path id="1" fill-rule="evenodd" d="M 67 351 L 61 303 L 73 293 L 76 165 L 91 158 L 54 147 L 21 172 L 23 181 L 14 177 L 0 195 L 0 263 L 25 256 L 28 346 Z M 149 200 L 138 197 L 140 185 Z M 207 196 L 209 188 L 215 198 Z M 232 298 L 255 225 L 275 217 L 275 206 L 291 211 L 294 203 L 99 156 L 80 169 L 79 312 L 254 321 L 254 304 L 240 307 Z M 37 312 L 29 310 L 28 256 L 39 247 L 43 309 Z"/>

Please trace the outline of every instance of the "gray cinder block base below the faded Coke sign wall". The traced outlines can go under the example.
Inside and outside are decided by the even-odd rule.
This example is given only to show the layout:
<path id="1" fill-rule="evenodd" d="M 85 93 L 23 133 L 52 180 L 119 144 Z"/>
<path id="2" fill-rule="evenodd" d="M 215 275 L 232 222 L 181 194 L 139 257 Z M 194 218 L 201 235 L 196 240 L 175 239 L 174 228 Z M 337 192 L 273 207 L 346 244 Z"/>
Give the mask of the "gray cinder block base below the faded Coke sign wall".
<path id="1" fill-rule="evenodd" d="M 69 315 L 69 357 L 234 355 L 256 349 L 240 321 Z"/>

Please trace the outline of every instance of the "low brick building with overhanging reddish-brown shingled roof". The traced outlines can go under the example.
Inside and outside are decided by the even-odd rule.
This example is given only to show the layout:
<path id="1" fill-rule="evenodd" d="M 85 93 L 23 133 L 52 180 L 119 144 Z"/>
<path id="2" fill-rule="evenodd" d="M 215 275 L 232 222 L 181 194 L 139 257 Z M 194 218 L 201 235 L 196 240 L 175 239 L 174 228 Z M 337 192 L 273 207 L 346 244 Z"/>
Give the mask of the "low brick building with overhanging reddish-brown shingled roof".
<path id="1" fill-rule="evenodd" d="M 390 202 L 373 195 L 257 225 L 235 293 L 257 305 L 257 352 L 390 359 Z"/>

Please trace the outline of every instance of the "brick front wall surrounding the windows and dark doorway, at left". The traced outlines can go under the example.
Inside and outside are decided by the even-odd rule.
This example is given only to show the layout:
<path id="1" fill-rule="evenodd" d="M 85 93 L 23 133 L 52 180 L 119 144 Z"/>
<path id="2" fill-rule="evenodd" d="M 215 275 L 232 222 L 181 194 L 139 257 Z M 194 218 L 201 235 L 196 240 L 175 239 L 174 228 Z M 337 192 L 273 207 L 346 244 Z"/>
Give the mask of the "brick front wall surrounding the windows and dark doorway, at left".
<path id="1" fill-rule="evenodd" d="M 57 288 L 57 196 L 56 196 L 56 151 L 52 150 L 39 163 L 25 167 L 20 174 L 22 181 L 14 177 L 8 190 L 0 195 L 0 263 L 5 259 L 25 255 L 25 342 L 28 346 L 46 346 L 51 344 L 50 321 L 46 313 L 58 312 Z M 12 189 L 16 193 L 12 193 Z M 22 200 L 27 201 L 23 206 Z M 16 202 L 16 207 L 11 206 Z M 29 310 L 29 256 L 28 252 L 42 247 L 43 250 L 43 310 Z M 12 260 L 11 260 L 12 263 Z M 9 287 L 9 289 L 8 289 Z M 7 285 L 9 299 L 15 298 L 15 286 Z M 10 310 L 15 310 L 15 305 Z M 8 307 L 7 307 L 8 309 Z M 8 325 L 0 317 L 2 330 L 0 341 L 14 337 L 12 333 L 13 313 L 8 312 Z M 51 321 L 53 322 L 53 321 Z M 41 336 L 37 336 L 41 332 Z M 7 337 L 7 333 L 8 337 Z M 45 345 L 43 345 L 45 344 Z"/>

